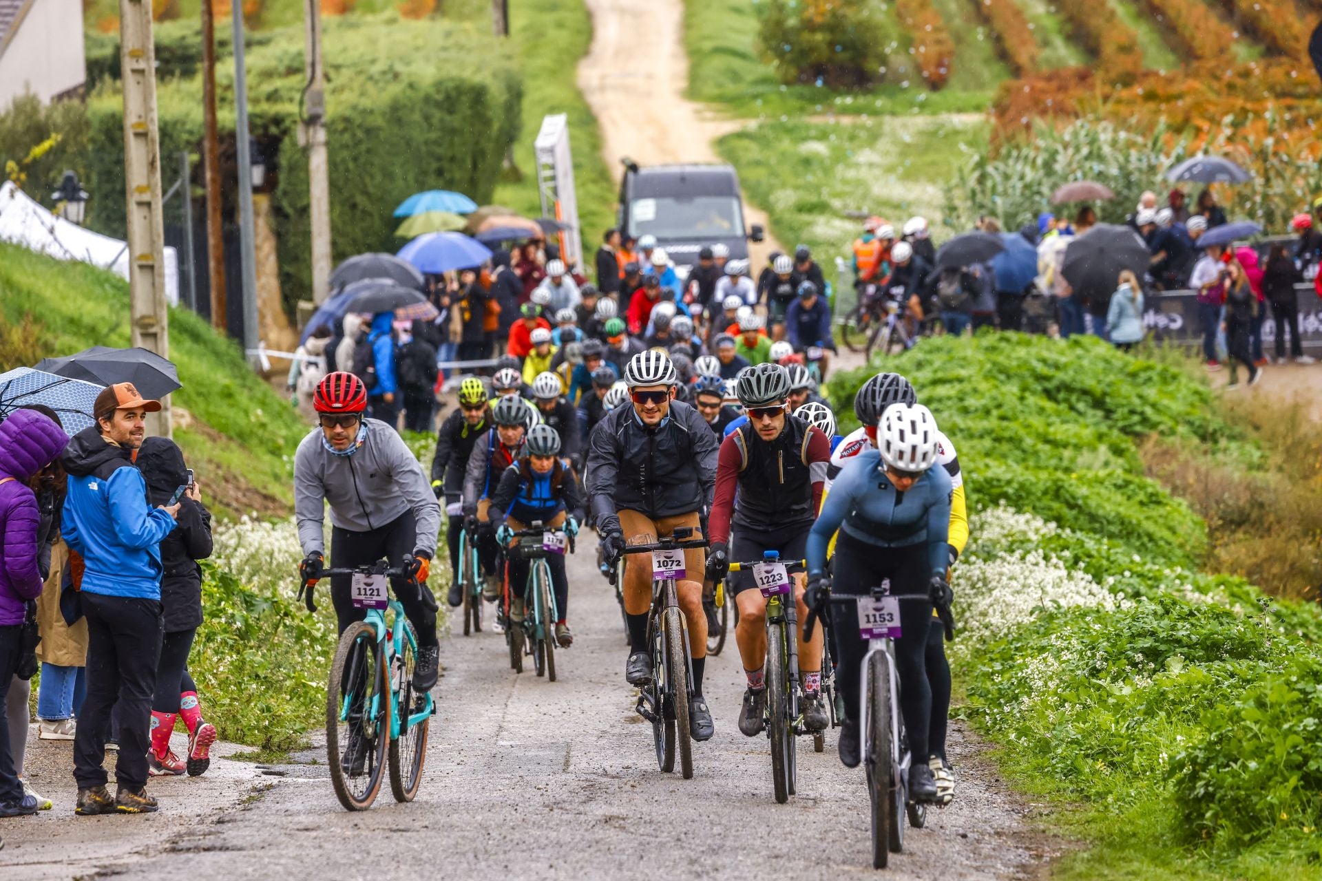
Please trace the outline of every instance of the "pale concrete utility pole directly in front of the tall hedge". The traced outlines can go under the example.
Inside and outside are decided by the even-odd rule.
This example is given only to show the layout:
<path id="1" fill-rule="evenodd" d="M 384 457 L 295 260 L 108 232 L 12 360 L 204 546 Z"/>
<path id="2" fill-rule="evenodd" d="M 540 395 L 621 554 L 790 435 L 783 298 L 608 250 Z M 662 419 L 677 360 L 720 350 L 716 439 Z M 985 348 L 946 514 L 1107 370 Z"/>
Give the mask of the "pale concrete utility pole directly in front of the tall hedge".
<path id="1" fill-rule="evenodd" d="M 327 168 L 325 70 L 321 67 L 321 3 L 304 0 L 308 82 L 303 88 L 299 144 L 308 149 L 308 213 L 312 222 L 312 300 L 325 302 L 330 287 L 330 176 Z"/>

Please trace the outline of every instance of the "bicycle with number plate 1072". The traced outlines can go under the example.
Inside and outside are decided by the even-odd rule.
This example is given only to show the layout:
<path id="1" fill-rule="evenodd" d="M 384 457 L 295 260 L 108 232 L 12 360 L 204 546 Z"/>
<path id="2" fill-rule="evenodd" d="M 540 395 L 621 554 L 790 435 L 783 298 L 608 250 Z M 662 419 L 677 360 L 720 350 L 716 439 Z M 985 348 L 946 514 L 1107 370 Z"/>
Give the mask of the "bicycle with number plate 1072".
<path id="1" fill-rule="evenodd" d="M 648 645 L 652 649 L 652 682 L 639 693 L 635 708 L 652 722 L 657 765 L 693 778 L 693 742 L 689 733 L 689 700 L 693 696 L 693 670 L 689 666 L 689 629 L 680 610 L 676 581 L 686 575 L 683 551 L 705 548 L 705 539 L 689 539 L 691 526 L 681 526 L 652 544 L 633 544 L 624 553 L 652 555 L 652 609 L 648 613 Z M 699 576 L 701 577 L 701 576 Z"/>

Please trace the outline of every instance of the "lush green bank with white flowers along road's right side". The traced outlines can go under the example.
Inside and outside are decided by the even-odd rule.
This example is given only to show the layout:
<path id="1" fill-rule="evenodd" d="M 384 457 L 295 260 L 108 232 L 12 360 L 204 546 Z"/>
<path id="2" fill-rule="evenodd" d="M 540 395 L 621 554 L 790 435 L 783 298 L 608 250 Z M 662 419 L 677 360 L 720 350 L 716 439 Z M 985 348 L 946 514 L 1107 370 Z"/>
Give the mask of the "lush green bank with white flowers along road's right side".
<path id="1" fill-rule="evenodd" d="M 954 580 L 964 712 L 1092 844 L 1054 874 L 1322 877 L 1322 616 L 1199 573 L 1204 524 L 1134 448 L 1261 456 L 1206 382 L 1077 337 L 937 338 L 895 367 L 958 446 L 977 510 Z"/>

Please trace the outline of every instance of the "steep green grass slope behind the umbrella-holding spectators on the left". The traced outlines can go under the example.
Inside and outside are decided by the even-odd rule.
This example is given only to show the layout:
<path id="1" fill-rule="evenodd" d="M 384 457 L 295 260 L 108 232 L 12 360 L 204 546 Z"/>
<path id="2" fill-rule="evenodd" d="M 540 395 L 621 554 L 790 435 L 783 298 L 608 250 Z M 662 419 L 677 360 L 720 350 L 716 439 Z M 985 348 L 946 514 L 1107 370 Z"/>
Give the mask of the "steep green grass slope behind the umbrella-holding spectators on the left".
<path id="1" fill-rule="evenodd" d="M 0 349 L 0 370 L 87 346 L 127 346 L 128 285 L 85 263 L 0 243 L 0 318 L 32 322 L 21 350 Z M 288 511 L 293 450 L 308 428 L 247 367 L 235 343 L 186 309 L 171 309 L 169 320 L 171 361 L 184 383 L 172 396 L 175 440 L 208 503 L 227 515 Z"/>

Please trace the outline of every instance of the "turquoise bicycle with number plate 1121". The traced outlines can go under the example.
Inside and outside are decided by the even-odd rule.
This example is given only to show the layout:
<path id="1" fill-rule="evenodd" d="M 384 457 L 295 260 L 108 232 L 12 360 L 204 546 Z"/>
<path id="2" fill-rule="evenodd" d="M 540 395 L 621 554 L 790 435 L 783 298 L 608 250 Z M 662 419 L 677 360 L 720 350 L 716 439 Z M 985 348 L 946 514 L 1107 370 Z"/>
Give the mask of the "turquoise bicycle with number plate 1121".
<path id="1" fill-rule="evenodd" d="M 423 604 L 435 612 L 436 598 L 412 579 L 411 571 L 412 557 L 406 555 L 398 568 L 378 560 L 321 573 L 352 576 L 353 605 L 368 610 L 362 621 L 340 634 L 327 682 L 327 761 L 330 785 L 346 811 L 365 811 L 377 800 L 382 765 L 389 763 L 390 791 L 397 802 L 411 802 L 422 783 L 436 704 L 430 692 L 414 692 L 418 638 L 403 605 L 387 589 L 387 579 L 407 577 Z M 317 610 L 312 593 L 312 585 L 303 581 L 299 597 L 308 612 Z M 387 610 L 393 616 L 389 623 Z"/>

